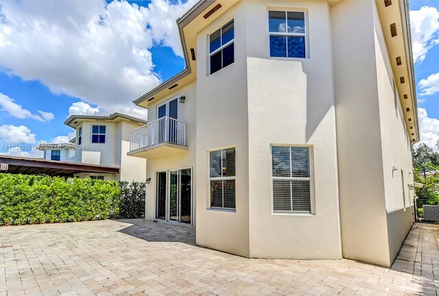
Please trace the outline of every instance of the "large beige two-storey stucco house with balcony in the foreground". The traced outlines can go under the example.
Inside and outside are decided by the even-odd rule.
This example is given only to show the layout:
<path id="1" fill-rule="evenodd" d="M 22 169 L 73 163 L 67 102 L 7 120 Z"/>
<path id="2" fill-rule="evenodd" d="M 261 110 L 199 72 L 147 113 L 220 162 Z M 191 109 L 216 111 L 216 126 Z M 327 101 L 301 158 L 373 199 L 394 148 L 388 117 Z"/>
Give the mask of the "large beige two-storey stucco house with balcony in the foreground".
<path id="1" fill-rule="evenodd" d="M 389 267 L 414 221 L 408 17 L 407 1 L 199 1 L 177 21 L 185 70 L 134 101 L 146 219 L 240 256 Z"/>

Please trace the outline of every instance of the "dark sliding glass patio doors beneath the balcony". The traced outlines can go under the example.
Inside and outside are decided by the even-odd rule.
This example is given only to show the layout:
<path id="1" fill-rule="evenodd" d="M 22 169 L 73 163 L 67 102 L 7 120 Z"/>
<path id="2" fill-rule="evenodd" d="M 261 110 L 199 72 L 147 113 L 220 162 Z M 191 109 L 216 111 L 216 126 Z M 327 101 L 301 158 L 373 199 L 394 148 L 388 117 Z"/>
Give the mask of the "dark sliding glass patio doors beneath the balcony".
<path id="1" fill-rule="evenodd" d="M 156 219 L 191 225 L 192 170 L 157 172 Z"/>

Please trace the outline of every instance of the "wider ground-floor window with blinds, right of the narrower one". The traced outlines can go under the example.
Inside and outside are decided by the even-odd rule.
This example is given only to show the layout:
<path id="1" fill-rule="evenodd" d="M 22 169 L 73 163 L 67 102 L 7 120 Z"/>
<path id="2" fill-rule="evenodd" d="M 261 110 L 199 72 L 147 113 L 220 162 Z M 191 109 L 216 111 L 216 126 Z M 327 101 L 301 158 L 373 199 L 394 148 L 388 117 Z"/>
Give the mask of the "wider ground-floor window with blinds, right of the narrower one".
<path id="1" fill-rule="evenodd" d="M 309 150 L 272 146 L 274 212 L 311 212 Z"/>

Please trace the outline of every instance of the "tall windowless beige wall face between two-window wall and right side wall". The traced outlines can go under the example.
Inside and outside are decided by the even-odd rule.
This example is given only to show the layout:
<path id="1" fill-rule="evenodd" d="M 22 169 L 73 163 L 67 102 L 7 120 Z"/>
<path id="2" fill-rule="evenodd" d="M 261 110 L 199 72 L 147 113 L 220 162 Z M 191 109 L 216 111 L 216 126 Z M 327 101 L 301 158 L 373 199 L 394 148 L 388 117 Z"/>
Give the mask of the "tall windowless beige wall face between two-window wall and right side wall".
<path id="1" fill-rule="evenodd" d="M 373 10 L 331 6 L 340 221 L 344 258 L 388 265 Z"/>

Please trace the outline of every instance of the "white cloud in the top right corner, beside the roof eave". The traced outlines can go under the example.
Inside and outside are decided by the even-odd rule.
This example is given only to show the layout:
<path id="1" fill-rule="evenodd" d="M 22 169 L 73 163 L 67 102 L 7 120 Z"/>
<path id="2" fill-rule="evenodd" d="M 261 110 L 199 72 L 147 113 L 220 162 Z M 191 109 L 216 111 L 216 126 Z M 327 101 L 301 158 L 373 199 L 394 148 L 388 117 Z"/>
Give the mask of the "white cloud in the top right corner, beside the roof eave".
<path id="1" fill-rule="evenodd" d="M 439 44 L 439 12 L 434 7 L 423 6 L 410 11 L 412 50 L 414 62 L 423 62 L 431 47 Z"/>

